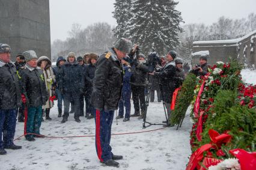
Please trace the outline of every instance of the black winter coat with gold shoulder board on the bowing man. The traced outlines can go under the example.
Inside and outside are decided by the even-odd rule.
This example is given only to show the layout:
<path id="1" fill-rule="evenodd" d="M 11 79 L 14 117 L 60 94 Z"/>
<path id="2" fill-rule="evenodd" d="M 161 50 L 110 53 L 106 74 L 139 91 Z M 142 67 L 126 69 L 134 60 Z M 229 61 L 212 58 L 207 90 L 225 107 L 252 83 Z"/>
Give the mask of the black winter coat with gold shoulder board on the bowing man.
<path id="1" fill-rule="evenodd" d="M 99 111 L 118 109 L 123 82 L 123 67 L 114 49 L 104 53 L 96 62 L 91 103 Z"/>

